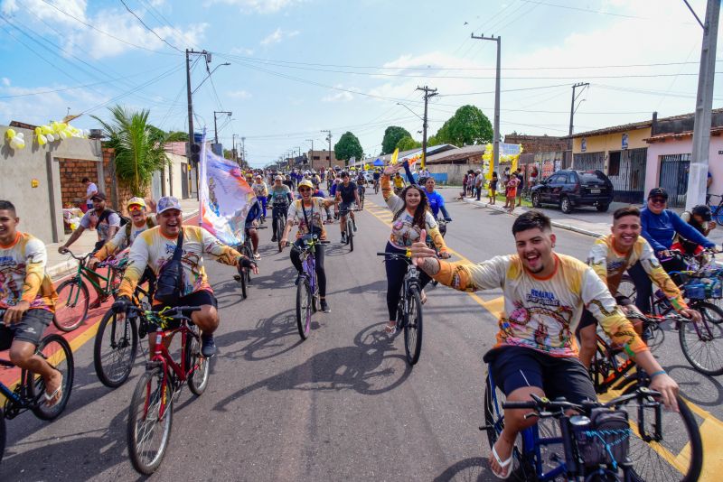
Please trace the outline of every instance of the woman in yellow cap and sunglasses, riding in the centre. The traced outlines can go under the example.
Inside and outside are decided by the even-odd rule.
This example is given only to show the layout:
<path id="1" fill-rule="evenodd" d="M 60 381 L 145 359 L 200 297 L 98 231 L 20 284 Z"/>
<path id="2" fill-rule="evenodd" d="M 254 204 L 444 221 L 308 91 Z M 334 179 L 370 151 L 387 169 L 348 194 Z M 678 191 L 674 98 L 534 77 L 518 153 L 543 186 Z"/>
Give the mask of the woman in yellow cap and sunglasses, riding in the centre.
<path id="1" fill-rule="evenodd" d="M 284 234 L 281 235 L 281 246 L 286 246 L 288 240 L 288 234 L 291 231 L 291 227 L 294 224 L 299 225 L 299 229 L 296 232 L 295 246 L 301 247 L 304 244 L 302 239 L 305 235 L 316 235 L 319 239 L 326 239 L 326 230 L 324 229 L 324 218 L 326 214 L 325 208 L 328 208 L 333 204 L 333 200 L 324 198 L 312 197 L 312 190 L 314 186 L 311 181 L 299 182 L 298 191 L 301 194 L 301 199 L 296 199 L 288 209 L 286 215 L 286 227 L 284 228 Z M 326 302 L 326 271 L 324 270 L 324 245 L 316 245 L 315 247 L 315 258 L 316 258 L 316 279 L 319 282 L 319 304 L 321 305 L 321 311 L 328 313 L 329 304 Z M 294 264 L 298 276 L 296 277 L 296 283 L 299 281 L 301 276 L 301 256 L 298 251 L 291 251 L 291 263 Z"/>

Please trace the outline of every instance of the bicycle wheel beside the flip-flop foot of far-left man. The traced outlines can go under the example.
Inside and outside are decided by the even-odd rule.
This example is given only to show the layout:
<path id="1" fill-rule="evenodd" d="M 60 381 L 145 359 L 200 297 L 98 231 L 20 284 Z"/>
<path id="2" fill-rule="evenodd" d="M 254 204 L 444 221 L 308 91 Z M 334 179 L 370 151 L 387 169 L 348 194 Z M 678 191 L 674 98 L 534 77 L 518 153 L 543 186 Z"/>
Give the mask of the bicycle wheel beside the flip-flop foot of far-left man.
<path id="1" fill-rule="evenodd" d="M 45 381 L 41 375 L 35 375 L 26 370 L 20 375 L 20 379 L 28 386 L 28 392 L 35 402 L 33 413 L 41 420 L 53 420 L 65 410 L 65 405 L 70 399 L 70 392 L 73 388 L 73 352 L 70 345 L 60 335 L 52 334 L 42 338 L 35 354 L 44 358 L 54 369 L 61 372 L 61 400 L 52 407 L 48 407 L 45 401 Z"/>

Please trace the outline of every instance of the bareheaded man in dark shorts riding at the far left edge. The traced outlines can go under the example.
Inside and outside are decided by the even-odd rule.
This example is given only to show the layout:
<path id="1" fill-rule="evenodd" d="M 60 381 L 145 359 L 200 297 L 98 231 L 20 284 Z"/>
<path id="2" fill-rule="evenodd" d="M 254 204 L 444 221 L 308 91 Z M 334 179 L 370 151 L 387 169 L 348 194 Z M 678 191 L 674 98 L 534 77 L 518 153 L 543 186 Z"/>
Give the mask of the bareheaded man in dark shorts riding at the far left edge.
<path id="1" fill-rule="evenodd" d="M 58 295 L 45 273 L 48 253 L 35 236 L 17 230 L 20 218 L 12 202 L 0 200 L 0 350 L 10 348 L 15 366 L 42 376 L 45 401 L 52 407 L 62 398 L 62 375 L 35 355 L 42 333 L 51 324 Z M 1 415 L 0 415 L 1 416 Z"/>

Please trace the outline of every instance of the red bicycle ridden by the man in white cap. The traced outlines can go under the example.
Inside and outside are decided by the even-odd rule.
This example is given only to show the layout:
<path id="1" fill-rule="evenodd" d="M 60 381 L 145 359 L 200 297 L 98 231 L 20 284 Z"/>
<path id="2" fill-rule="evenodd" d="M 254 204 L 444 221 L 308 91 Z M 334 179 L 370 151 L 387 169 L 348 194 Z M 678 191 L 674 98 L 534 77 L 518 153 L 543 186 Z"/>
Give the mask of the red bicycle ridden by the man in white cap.
<path id="1" fill-rule="evenodd" d="M 161 465 L 171 438 L 174 396 L 188 383 L 192 394 L 200 396 L 209 382 L 209 362 L 201 355 L 198 328 L 187 316 L 200 307 L 179 306 L 163 311 L 144 311 L 127 307 L 126 314 L 135 312 L 146 319 L 155 331 L 155 345 L 146 373 L 141 375 L 128 408 L 127 445 L 133 467 L 150 475 Z M 168 329 L 164 331 L 164 329 Z M 181 360 L 176 363 L 164 341 L 181 333 Z M 156 440 L 158 439 L 158 440 Z"/>

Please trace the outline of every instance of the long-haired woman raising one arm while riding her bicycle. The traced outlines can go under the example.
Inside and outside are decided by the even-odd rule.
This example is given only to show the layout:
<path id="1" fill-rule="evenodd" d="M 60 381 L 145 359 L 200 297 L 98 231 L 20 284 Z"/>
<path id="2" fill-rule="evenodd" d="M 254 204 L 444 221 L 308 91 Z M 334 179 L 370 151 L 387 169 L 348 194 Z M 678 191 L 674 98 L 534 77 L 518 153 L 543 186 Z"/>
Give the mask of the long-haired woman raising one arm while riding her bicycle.
<path id="1" fill-rule="evenodd" d="M 422 230 L 426 229 L 432 242 L 439 252 L 439 257 L 448 258 L 449 253 L 445 240 L 439 233 L 437 221 L 431 212 L 427 195 L 416 185 L 409 185 L 397 196 L 391 191 L 390 175 L 394 172 L 399 174 L 402 164 L 390 166 L 384 170 L 381 176 L 381 194 L 387 202 L 387 206 L 394 213 L 391 224 L 391 236 L 384 249 L 387 253 L 405 254 L 408 246 L 419 240 Z M 407 273 L 407 263 L 400 260 L 388 259 L 385 263 L 387 271 L 387 310 L 389 311 L 389 323 L 385 327 L 387 333 L 393 334 L 397 328 L 397 305 L 399 304 L 399 290 L 404 282 L 404 274 Z M 424 287 L 431 281 L 426 273 L 419 275 L 419 288 L 422 290 L 422 302 L 427 300 L 424 294 Z"/>

